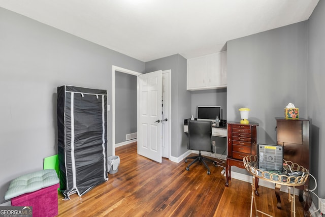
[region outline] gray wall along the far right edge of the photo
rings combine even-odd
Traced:
[[[325,1],[319,1],[308,20],[307,114],[311,126],[311,173],[317,178],[318,196],[325,198]],[[317,202],[317,201],[316,201]],[[314,201],[315,203],[315,201]]]

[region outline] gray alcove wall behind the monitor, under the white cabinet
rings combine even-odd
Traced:
[[[198,115],[198,106],[221,106],[221,119],[227,118],[227,89],[208,89],[191,91],[191,114]],[[216,153],[226,154],[227,139],[214,136]]]

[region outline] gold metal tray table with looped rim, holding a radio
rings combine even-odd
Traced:
[[[269,182],[273,182],[275,184],[292,187],[293,194],[290,193],[290,188],[288,188],[288,200],[291,203],[291,216],[296,216],[295,187],[301,186],[307,181],[309,177],[309,171],[303,166],[300,166],[297,163],[293,163],[291,161],[283,161],[283,172],[261,170],[258,169],[258,158],[256,155],[244,157],[243,162],[246,170],[253,176],[250,216],[252,216],[252,209],[254,203],[256,216],[258,216],[257,213],[260,212],[272,217],[272,215],[262,212],[256,207],[254,194],[256,190],[255,178],[260,178]]]

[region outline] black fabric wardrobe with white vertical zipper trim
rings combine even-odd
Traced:
[[[60,191],[82,196],[107,177],[107,91],[57,87]]]

